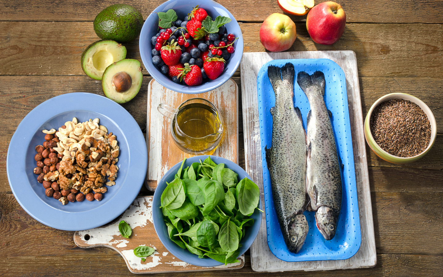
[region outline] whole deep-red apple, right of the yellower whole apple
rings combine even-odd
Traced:
[[[346,14],[342,6],[327,1],[318,4],[307,14],[306,28],[315,43],[334,44],[345,31]]]

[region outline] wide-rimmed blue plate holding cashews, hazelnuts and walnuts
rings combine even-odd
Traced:
[[[115,185],[107,187],[101,201],[68,203],[47,197],[37,175],[35,146],[42,144],[44,129],[58,129],[77,117],[79,122],[99,118],[120,146]],[[60,230],[86,230],[101,226],[122,214],[136,198],[144,182],[148,152],[143,133],[134,118],[116,102],[96,94],[70,93],[51,98],[23,118],[8,148],[6,170],[12,193],[20,206],[43,224]]]

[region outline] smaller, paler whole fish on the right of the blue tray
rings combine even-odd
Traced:
[[[306,191],[311,209],[316,211],[317,228],[326,240],[331,240],[342,207],[342,179],[330,115],[323,99],[325,76],[321,71],[312,75],[299,72],[297,83],[311,106],[307,116]]]

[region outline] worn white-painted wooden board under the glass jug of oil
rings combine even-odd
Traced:
[[[223,135],[218,147],[205,155],[220,156],[238,164],[238,86],[229,79],[215,90],[202,94],[182,94],[165,88],[154,79],[148,85],[146,145],[148,173],[146,187],[154,191],[163,175],[184,158],[196,156],[180,150],[171,138],[170,119],[157,110],[160,103],[177,108],[191,98],[203,98],[214,104],[223,119]]]

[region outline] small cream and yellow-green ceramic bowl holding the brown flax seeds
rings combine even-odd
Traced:
[[[394,156],[392,154],[389,154],[385,150],[383,150],[380,146],[378,146],[378,144],[375,142],[375,140],[372,136],[371,129],[369,126],[372,112],[378,105],[380,105],[382,102],[385,102],[385,101],[388,101],[391,99],[399,99],[399,98],[411,101],[411,102],[415,103],[416,105],[418,105],[421,109],[423,109],[424,113],[426,113],[427,118],[429,119],[429,122],[431,123],[431,140],[429,141],[429,145],[420,154],[418,154],[416,156],[408,157],[408,158]],[[431,149],[432,145],[435,142],[436,135],[437,135],[437,124],[435,122],[435,117],[432,114],[431,109],[429,109],[429,107],[423,101],[421,101],[420,99],[418,99],[415,96],[412,96],[410,94],[405,94],[405,93],[386,94],[385,96],[383,96],[383,97],[379,98],[377,101],[375,101],[375,103],[369,109],[369,112],[365,118],[366,142],[368,143],[369,147],[372,149],[372,151],[377,156],[379,156],[381,159],[388,161],[392,164],[408,164],[408,163],[415,162],[416,160],[419,160],[421,157],[426,155],[427,152],[429,152],[429,150]]]

